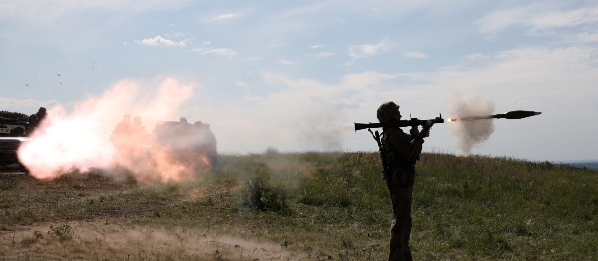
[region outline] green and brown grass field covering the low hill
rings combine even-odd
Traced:
[[[105,178],[111,170],[0,174],[0,259],[386,259],[392,209],[379,154],[218,160],[160,184]],[[417,260],[596,260],[597,212],[595,170],[426,153],[411,248]]]

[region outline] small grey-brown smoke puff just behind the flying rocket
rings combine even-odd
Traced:
[[[494,114],[494,103],[477,94],[454,94],[449,99],[449,113],[452,117],[483,116]],[[471,149],[481,145],[494,131],[493,120],[459,121],[449,124],[451,134],[456,138],[457,156],[467,156]]]

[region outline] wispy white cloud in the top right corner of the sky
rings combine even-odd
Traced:
[[[598,21],[598,6],[569,11],[558,10],[557,5],[545,2],[495,11],[475,21],[481,33],[493,35],[508,27],[520,25],[529,28],[530,35],[560,27],[573,27]]]

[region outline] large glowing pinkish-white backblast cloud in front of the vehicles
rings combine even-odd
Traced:
[[[165,151],[151,154],[138,151],[137,148],[142,147],[135,139],[130,139],[127,147],[136,150],[118,150],[109,142],[114,126],[124,114],[140,116],[145,122],[172,117],[181,103],[193,94],[193,86],[181,85],[172,78],[158,86],[155,97],[139,95],[142,87],[147,91],[147,86],[139,82],[123,80],[101,97],[77,102],[71,113],[61,105],[51,108],[47,118],[30,135],[30,141],[20,146],[19,160],[36,178],[52,179],[65,172],[117,166],[132,171],[138,180],[180,178],[178,173],[184,167],[169,161]],[[151,159],[139,160],[141,156]]]

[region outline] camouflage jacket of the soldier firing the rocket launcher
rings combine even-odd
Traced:
[[[383,128],[382,147],[390,168],[414,165],[422,154],[423,139],[411,138],[400,128]]]

